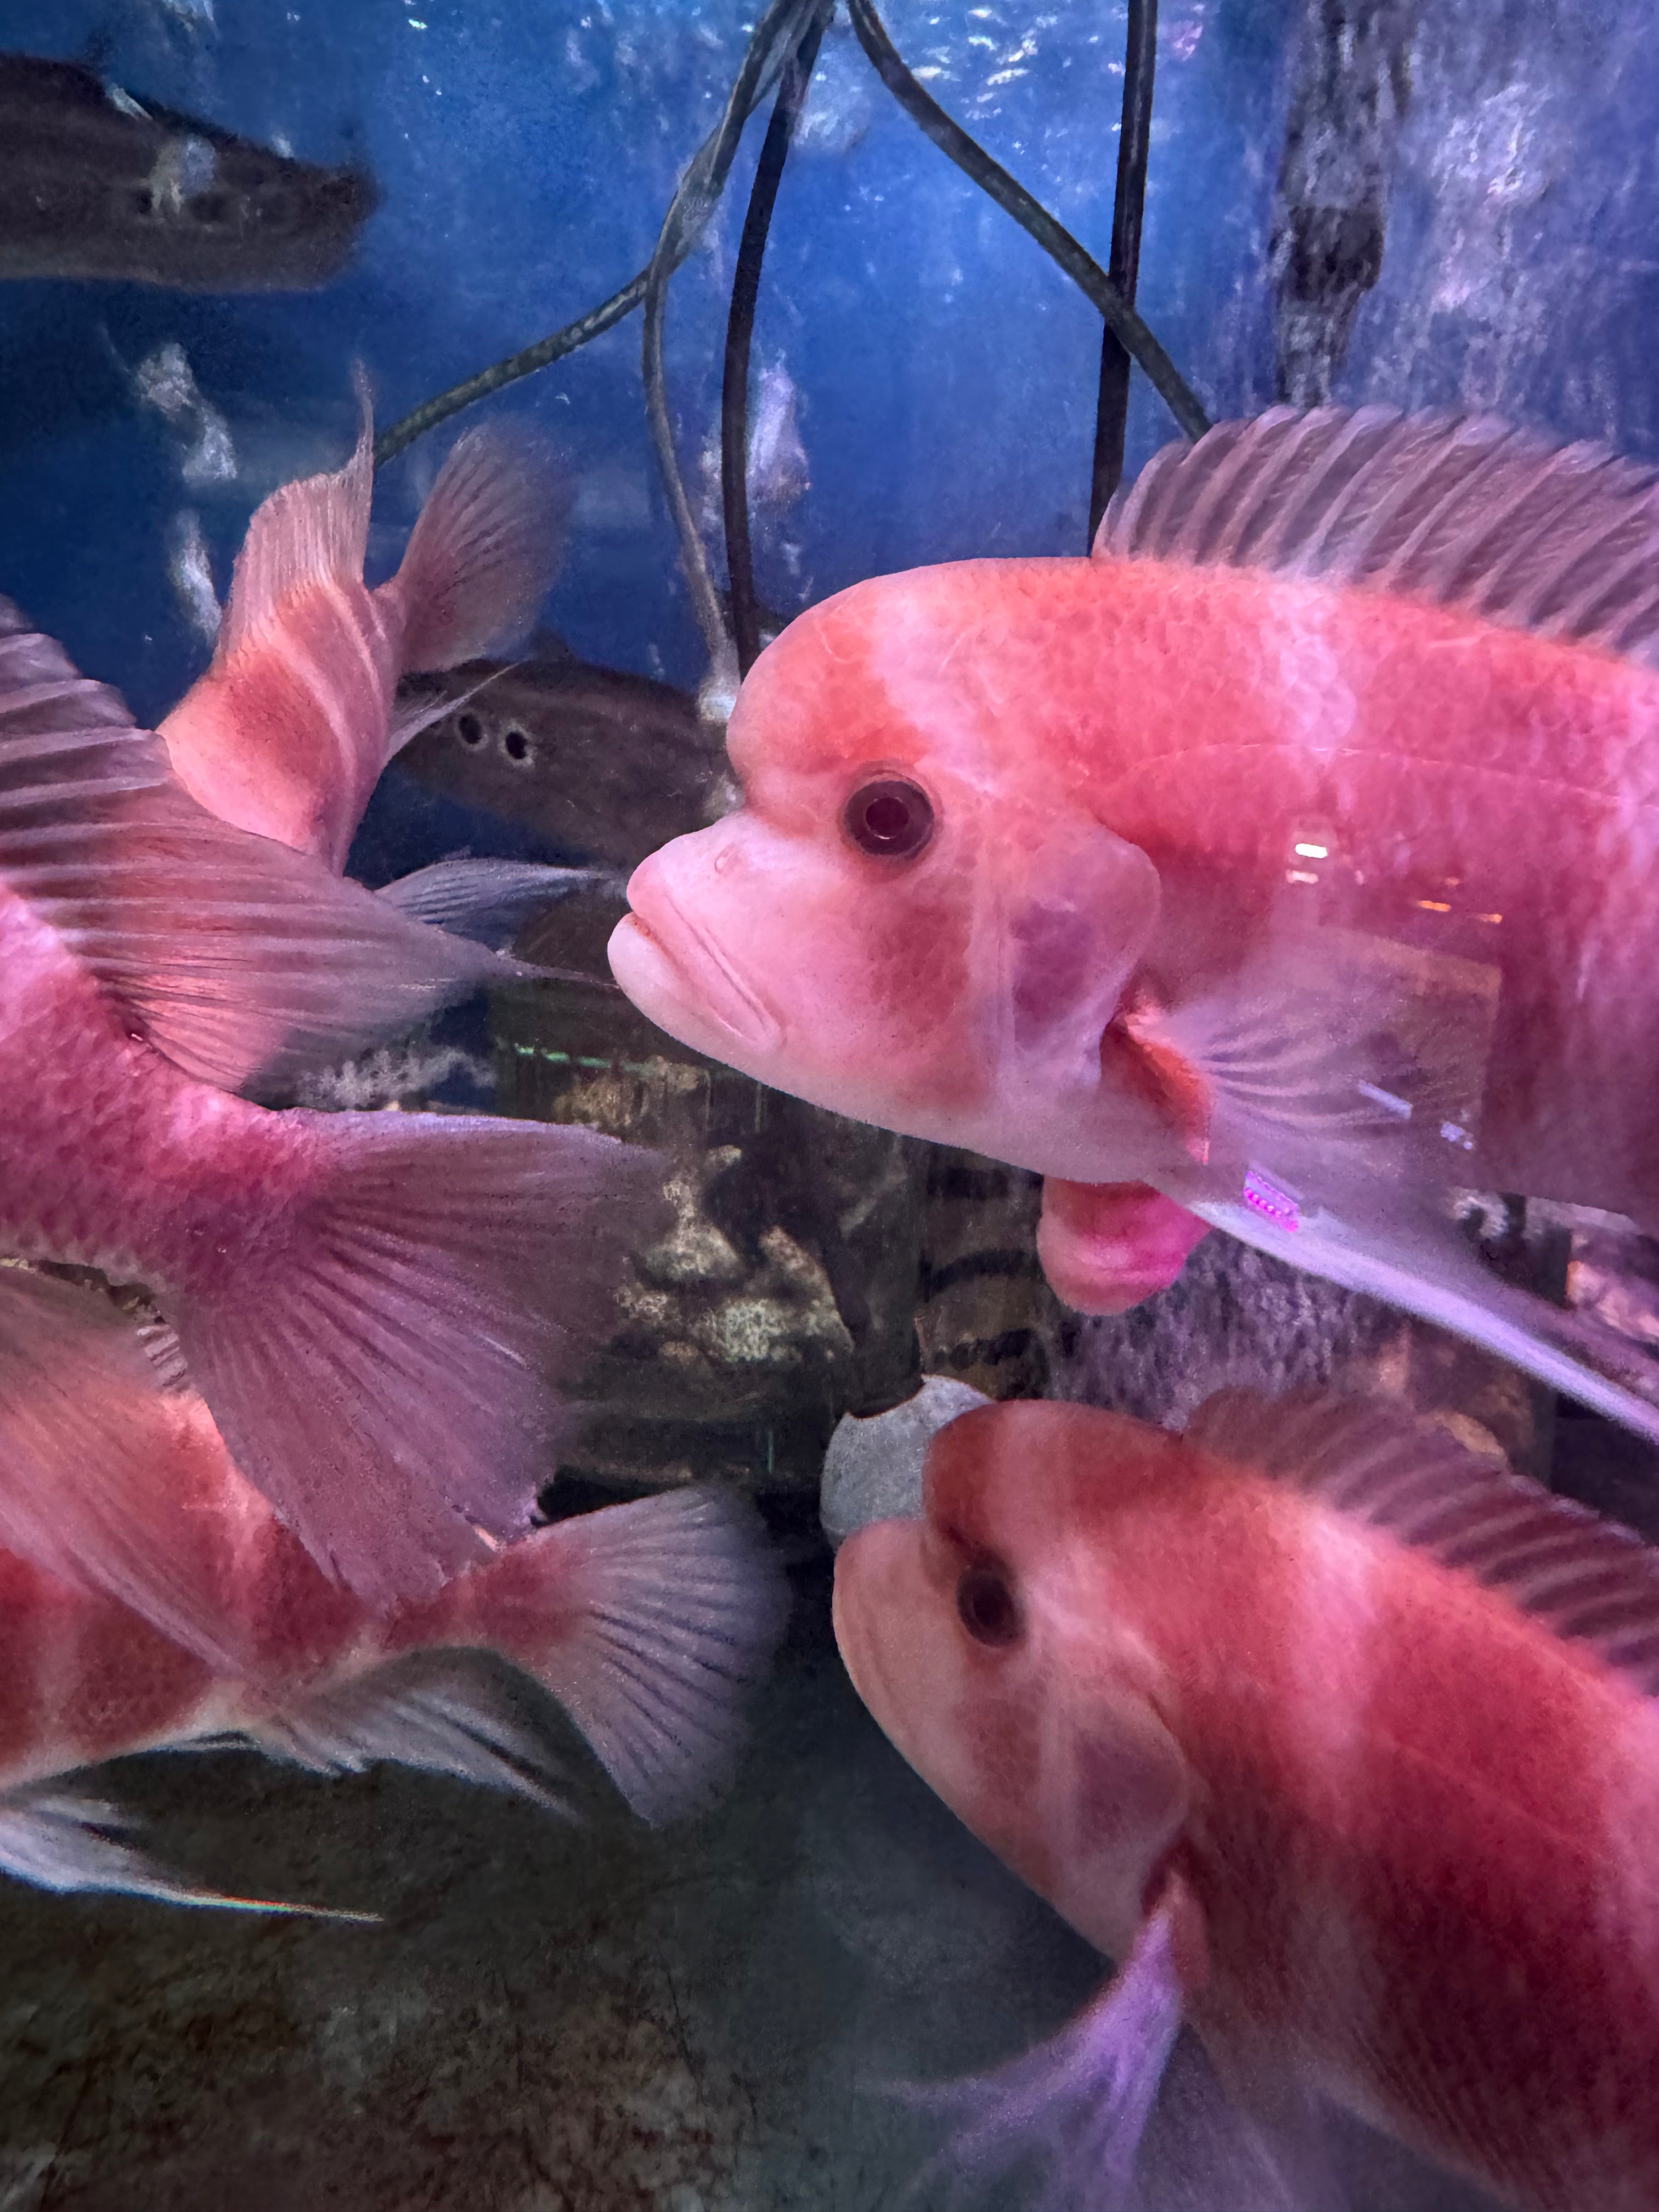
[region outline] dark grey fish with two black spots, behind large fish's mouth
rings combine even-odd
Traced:
[[[427,790],[613,867],[708,818],[726,763],[690,692],[582,661],[542,633],[535,659],[467,661],[398,688],[400,708],[445,697],[453,712],[396,759]]]

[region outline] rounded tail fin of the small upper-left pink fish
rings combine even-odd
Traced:
[[[456,668],[522,635],[557,575],[568,511],[546,447],[495,425],[467,431],[376,593],[403,613],[405,670]]]

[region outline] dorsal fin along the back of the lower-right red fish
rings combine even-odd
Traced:
[[[1442,1566],[1502,1590],[1659,1694],[1659,1553],[1619,1522],[1478,1458],[1376,1398],[1223,1389],[1188,1422],[1203,1451],[1316,1491]]]

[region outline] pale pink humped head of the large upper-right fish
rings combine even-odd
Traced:
[[[858,584],[761,655],[728,730],[743,803],[635,869],[611,964],[779,1091],[1099,1179],[1115,1133],[1137,1161],[1161,1139],[1102,1075],[1159,880],[1053,748],[1022,752],[998,653],[962,633],[980,566]]]

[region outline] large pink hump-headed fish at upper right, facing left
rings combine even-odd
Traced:
[[[878,577],[653,854],[641,1011],[838,1113],[1210,1223],[1659,1433],[1484,1274],[1458,1186],[1659,1230],[1655,471],[1491,420],[1276,409],[1091,560]]]

